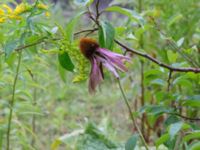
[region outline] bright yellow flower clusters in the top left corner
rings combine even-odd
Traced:
[[[22,19],[21,15],[30,11],[33,7],[33,5],[29,5],[28,3],[21,3],[15,9],[12,9],[10,6],[3,4],[0,6],[0,23],[5,22],[7,19],[20,20]],[[50,16],[47,5],[40,3],[36,7],[45,10],[45,16]]]

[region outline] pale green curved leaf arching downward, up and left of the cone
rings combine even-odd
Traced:
[[[74,29],[76,27],[76,24],[78,20],[80,19],[81,15],[83,15],[84,12],[80,12],[76,16],[74,16],[67,24],[66,26],[66,39],[70,42],[74,39]]]

